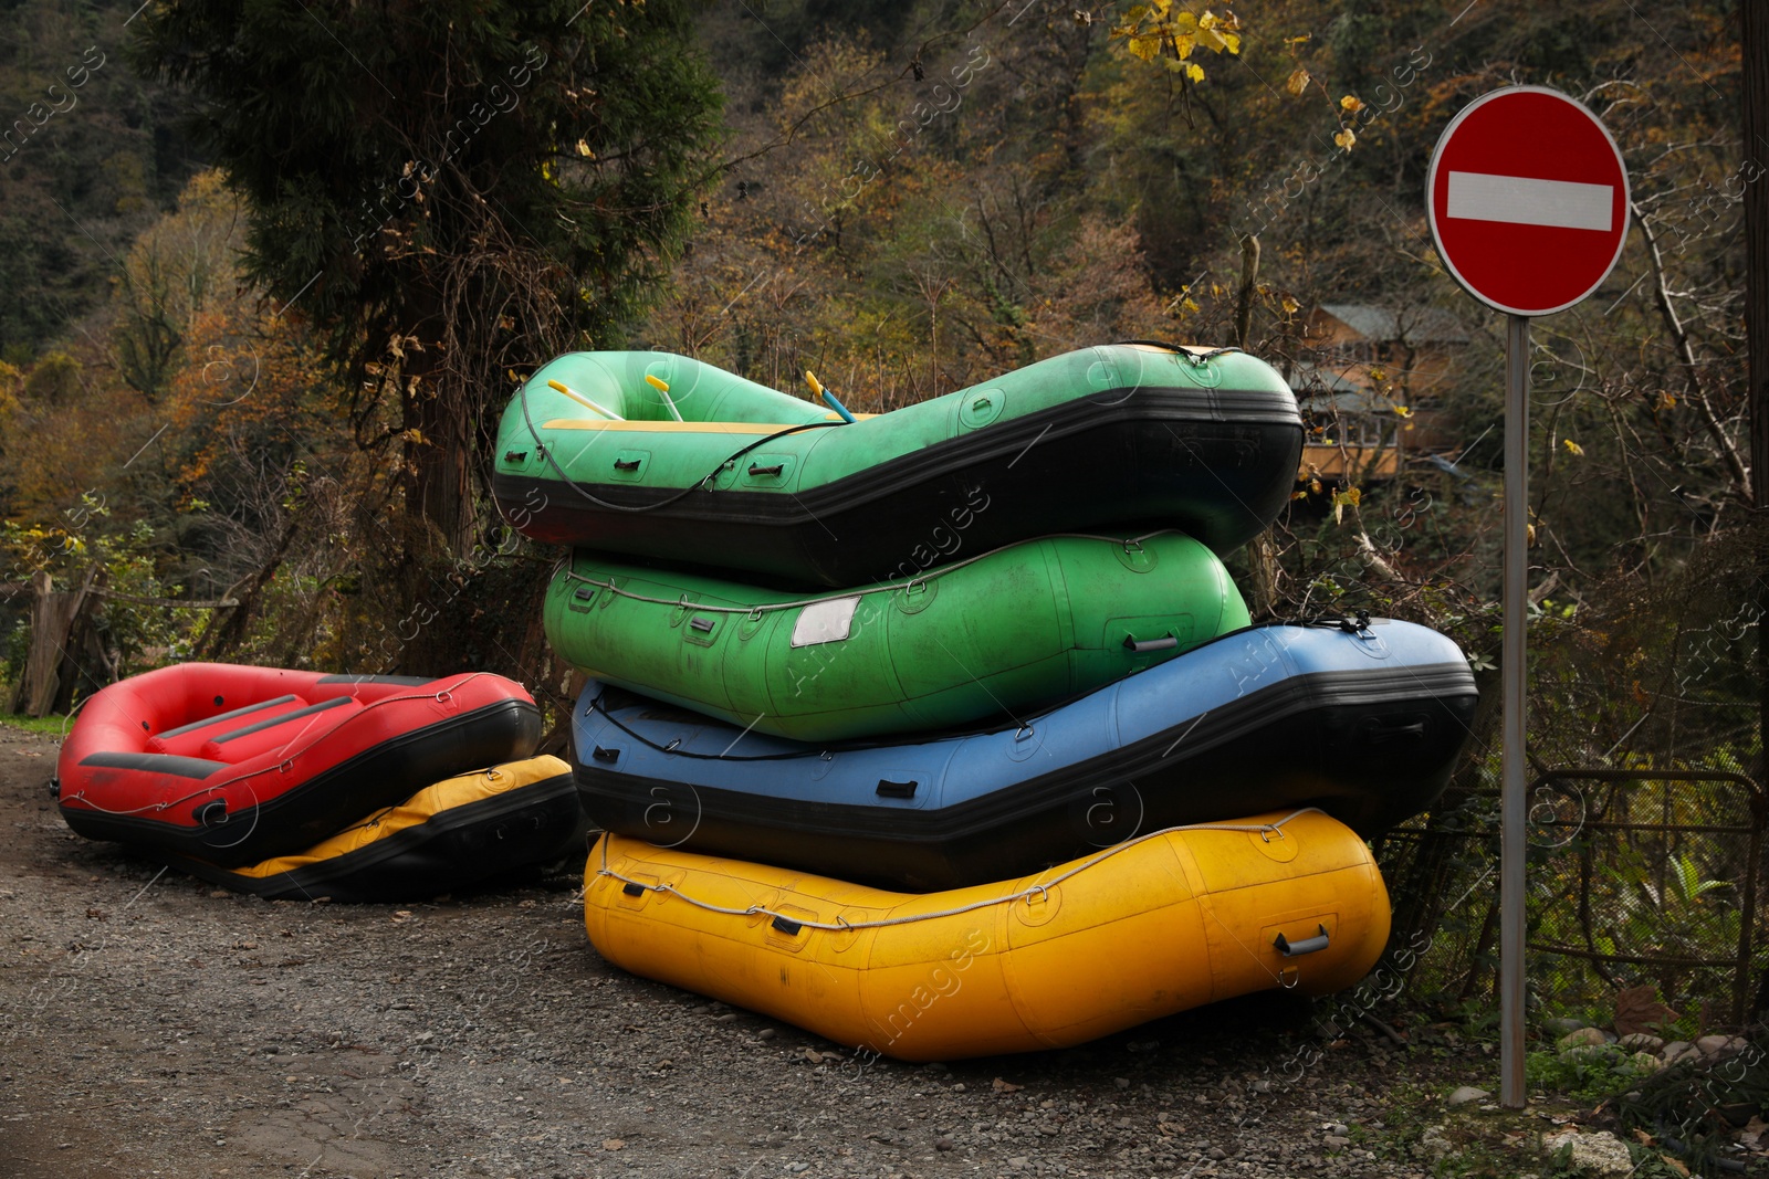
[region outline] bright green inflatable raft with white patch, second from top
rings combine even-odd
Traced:
[[[577,551],[554,650],[603,682],[800,741],[1015,718],[1249,624],[1180,532],[1053,536],[923,576],[794,596]]]

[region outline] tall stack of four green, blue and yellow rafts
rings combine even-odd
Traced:
[[[1129,343],[877,417],[810,385],[571,354],[504,415],[501,507],[575,546],[598,951],[904,1059],[1359,979],[1360,836],[1475,693],[1419,626],[1249,626],[1219,555],[1293,486],[1283,378]]]

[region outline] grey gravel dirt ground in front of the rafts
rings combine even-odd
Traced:
[[[571,877],[410,909],[234,896],[71,834],[53,760],[0,726],[0,1175],[1429,1170],[1444,1062],[1360,1031],[1260,1092],[1320,1043],[1270,1000],[862,1069],[609,967]]]

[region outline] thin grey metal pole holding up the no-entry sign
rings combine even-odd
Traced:
[[[1528,619],[1530,316],[1505,331],[1505,638],[1498,845],[1498,1103],[1521,1110],[1523,1092],[1523,704]]]

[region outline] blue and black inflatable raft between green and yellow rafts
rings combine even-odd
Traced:
[[[1444,635],[1332,619],[1242,629],[1038,714],[893,741],[766,737],[591,681],[575,771],[607,831],[936,891],[1302,804],[1375,834],[1436,799],[1474,705]]]

